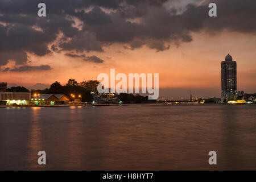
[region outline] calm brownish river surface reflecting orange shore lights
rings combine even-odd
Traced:
[[[256,170],[256,105],[2,108],[0,169]]]

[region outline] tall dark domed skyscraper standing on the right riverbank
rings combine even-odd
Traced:
[[[221,100],[233,100],[237,93],[237,62],[229,54],[221,62]]]

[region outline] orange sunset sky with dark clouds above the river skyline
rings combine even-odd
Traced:
[[[46,17],[38,17],[38,4]],[[209,17],[209,3],[217,17]],[[220,97],[221,61],[256,92],[255,0],[0,0],[0,82],[46,88],[100,73],[159,73],[160,97]]]

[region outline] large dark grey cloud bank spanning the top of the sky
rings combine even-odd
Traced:
[[[254,0],[212,0],[217,18],[208,16],[207,0],[187,5],[181,14],[176,7],[164,7],[166,0],[45,0],[46,18],[37,15],[40,2],[0,0],[0,65],[8,60],[27,64],[27,52],[102,52],[113,43],[131,50],[145,45],[164,51],[171,43],[191,42],[191,32],[256,32]]]

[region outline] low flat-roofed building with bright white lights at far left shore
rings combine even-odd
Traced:
[[[28,105],[30,92],[0,92],[0,105]]]

